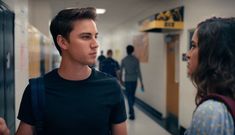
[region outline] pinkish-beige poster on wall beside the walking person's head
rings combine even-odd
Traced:
[[[149,55],[149,38],[147,33],[136,35],[133,37],[133,46],[135,47],[135,56],[142,63],[148,62]]]

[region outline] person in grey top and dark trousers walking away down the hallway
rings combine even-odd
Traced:
[[[134,52],[134,47],[132,45],[128,45],[126,47],[127,56],[122,59],[121,62],[121,77],[120,81],[122,81],[122,74],[123,70],[125,70],[125,87],[126,87],[126,94],[129,106],[129,119],[135,119],[135,111],[134,111],[134,103],[135,103],[135,92],[137,87],[137,79],[140,79],[141,88],[144,88],[142,75],[140,70],[140,63],[139,60],[132,55]]]

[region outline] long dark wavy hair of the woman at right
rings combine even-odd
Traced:
[[[235,99],[235,19],[213,17],[197,28],[198,67],[191,76],[196,104],[210,93]]]

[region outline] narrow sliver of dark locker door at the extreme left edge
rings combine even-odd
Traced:
[[[4,117],[3,9],[0,6],[0,117]]]

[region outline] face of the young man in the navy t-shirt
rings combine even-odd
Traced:
[[[97,55],[97,27],[93,20],[84,19],[73,23],[73,30],[69,34],[66,54],[70,61],[81,65],[91,65],[96,62]]]

